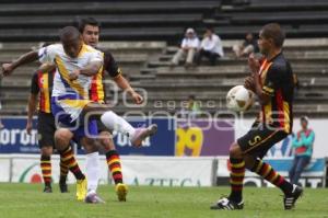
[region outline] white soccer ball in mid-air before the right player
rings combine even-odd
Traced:
[[[255,94],[244,85],[232,88],[226,94],[226,107],[234,112],[246,112],[254,104]]]

